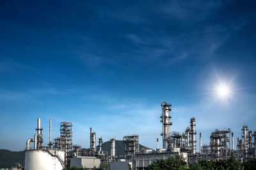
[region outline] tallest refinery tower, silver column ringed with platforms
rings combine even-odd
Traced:
[[[170,140],[170,126],[172,125],[172,122],[170,122],[170,119],[172,118],[170,116],[170,111],[172,104],[168,104],[165,102],[161,103],[162,106],[162,115],[161,115],[161,121],[163,124],[163,132],[161,136],[163,136],[163,148],[168,148],[168,140]]]

